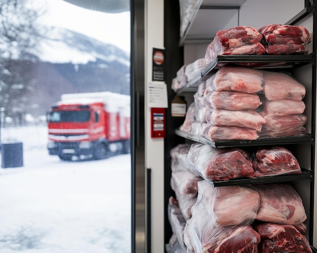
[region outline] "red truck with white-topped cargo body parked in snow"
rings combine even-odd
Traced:
[[[62,94],[48,113],[48,150],[63,161],[130,153],[130,96]]]

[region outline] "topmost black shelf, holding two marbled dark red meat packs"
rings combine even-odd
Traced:
[[[294,67],[300,66],[313,62],[313,54],[309,55],[229,55],[229,56],[217,56],[211,63],[209,63],[202,70],[202,77],[205,77],[217,67],[219,63],[229,64],[229,63],[283,63],[281,66],[276,67]],[[268,67],[258,67],[258,68],[272,68]]]

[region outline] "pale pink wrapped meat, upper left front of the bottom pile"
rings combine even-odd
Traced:
[[[250,225],[258,212],[260,196],[244,186],[214,187],[206,180],[198,182],[197,203],[201,202],[215,226]]]

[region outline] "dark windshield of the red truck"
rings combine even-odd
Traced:
[[[50,113],[49,122],[87,122],[89,111],[55,111]]]

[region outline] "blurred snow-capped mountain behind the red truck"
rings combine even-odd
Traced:
[[[33,54],[16,63],[34,77],[26,113],[45,115],[63,93],[130,94],[130,55],[115,45],[52,28]]]

